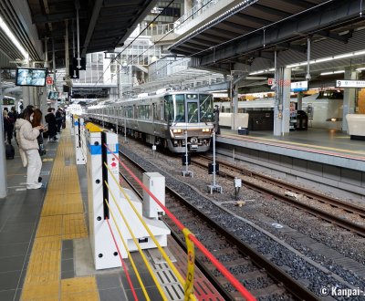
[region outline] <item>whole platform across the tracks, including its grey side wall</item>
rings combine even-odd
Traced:
[[[365,143],[341,130],[311,129],[274,136],[273,131],[221,129],[217,153],[282,172],[302,182],[315,181],[364,195]],[[365,195],[364,195],[365,197]]]

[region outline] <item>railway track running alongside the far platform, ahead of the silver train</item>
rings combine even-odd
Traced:
[[[195,164],[197,166],[201,166],[203,168],[207,168],[208,163],[212,162],[212,161],[213,161],[213,159],[211,157],[202,156],[202,155],[192,158],[193,164]],[[309,191],[307,189],[300,188],[295,185],[291,185],[287,182],[282,182],[282,181],[273,179],[271,177],[267,177],[263,174],[255,172],[255,171],[247,171],[243,168],[236,167],[235,165],[224,162],[224,161],[216,161],[216,163],[219,163],[219,167],[220,167],[219,175],[220,176],[235,179],[234,173],[243,174],[250,178],[259,180],[261,182],[266,182],[266,183],[269,183],[276,187],[280,187],[282,189],[285,189],[288,192],[294,192],[297,194],[304,195],[310,200],[313,200],[313,201],[316,201],[319,203],[328,204],[331,208],[335,208],[338,210],[337,215],[328,213],[327,211],[319,209],[306,202],[300,202],[296,198],[293,198],[293,197],[287,196],[283,193],[276,192],[272,189],[263,187],[262,185],[257,184],[255,182],[241,179],[243,185],[245,185],[245,187],[247,187],[247,188],[253,189],[256,192],[273,195],[276,199],[281,200],[283,202],[287,202],[290,205],[293,205],[301,210],[304,210],[311,215],[317,216],[317,217],[327,221],[328,223],[337,224],[339,227],[342,227],[353,233],[359,234],[362,237],[365,237],[365,226],[364,225],[361,225],[359,223],[353,223],[352,221],[341,217],[341,215],[342,215],[341,211],[343,211],[345,213],[351,213],[351,214],[354,214],[356,217],[365,219],[365,210],[363,208],[361,208],[360,206],[350,204],[349,202],[343,202],[338,199],[334,199],[334,198],[328,197],[326,195],[320,194],[318,192]],[[364,223],[365,223],[365,221],[364,221]]]

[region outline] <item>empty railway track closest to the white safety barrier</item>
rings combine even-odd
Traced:
[[[124,159],[129,159],[120,153]],[[139,179],[142,178],[144,169],[136,165],[132,160],[123,160],[130,171],[134,172]],[[130,187],[142,195],[141,187],[130,177],[129,173],[121,171],[121,176]],[[239,279],[248,290],[257,298],[264,299],[301,299],[317,300],[318,297],[311,293],[305,286],[285,271],[271,263],[265,256],[259,254],[251,246],[238,239],[235,234],[227,231],[222,225],[215,223],[202,208],[196,208],[189,199],[189,193],[175,192],[166,186],[166,207],[177,216],[180,221],[187,225],[203,242],[203,244]],[[184,245],[183,235],[165,217],[165,223],[172,229],[174,238]],[[197,252],[196,263],[203,273],[214,283],[224,299],[235,300],[238,293],[229,285],[214,265],[206,262],[203,255]]]

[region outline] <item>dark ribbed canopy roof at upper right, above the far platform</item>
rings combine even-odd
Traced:
[[[336,39],[347,43],[355,28],[365,26],[356,0],[246,0],[211,16],[170,47],[177,54],[200,57],[201,66],[273,58],[275,50],[307,51],[313,41]],[[222,67],[222,66],[221,66]]]

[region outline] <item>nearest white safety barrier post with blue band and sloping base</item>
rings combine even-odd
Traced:
[[[138,197],[128,189],[120,192],[120,187],[114,181],[113,176],[119,179],[119,157],[118,135],[107,131],[93,131],[89,126],[87,130],[88,156],[88,195],[89,195],[89,235],[93,258],[96,269],[105,269],[119,267],[121,265],[117,247],[110,234],[110,229],[106,217],[110,219],[111,230],[115,236],[116,243],[120,249],[122,258],[127,258],[128,253],[121,241],[119,230],[123,241],[126,243],[129,251],[137,251],[138,247],[133,242],[126,223],[129,224],[133,235],[137,238],[141,249],[154,248],[156,245],[151,240],[151,236],[140,222],[137,214],[130,207],[130,202],[136,208],[136,211],[142,216],[142,202]],[[104,143],[108,145],[104,147]],[[105,167],[104,162],[108,165]],[[110,175],[112,172],[113,176]],[[108,186],[104,184],[108,182]],[[164,190],[164,187],[160,187]],[[109,202],[109,207],[104,200]],[[116,204],[118,202],[119,208]],[[130,201],[130,202],[129,202]],[[110,211],[109,211],[110,210]],[[120,212],[126,218],[126,223],[122,219]],[[114,219],[118,224],[117,229]],[[110,215],[110,216],[109,216]],[[167,245],[167,234],[170,230],[160,220],[142,216],[144,223],[148,225],[151,233],[162,246]]]

